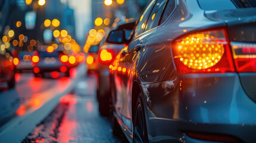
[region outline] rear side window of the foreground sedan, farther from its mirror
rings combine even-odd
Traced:
[[[147,20],[147,25],[146,25],[145,31],[153,29],[154,27],[158,26],[158,23],[159,23],[161,15],[162,15],[162,12],[164,10],[166,1],[167,0],[156,1],[156,4],[149,16],[149,19]]]

